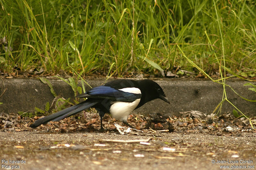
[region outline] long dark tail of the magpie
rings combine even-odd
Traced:
[[[98,103],[98,102],[86,100],[84,102],[78,103],[78,104],[71,106],[69,108],[66,108],[64,110],[60,110],[56,113],[48,115],[46,117],[42,117],[42,118],[36,120],[33,124],[31,124],[30,127],[36,128],[37,126],[39,126],[41,124],[46,124],[47,122],[50,122],[50,121],[54,121],[54,122],[60,121],[61,119],[64,119],[65,117],[72,116],[82,110],[88,109],[89,107],[92,107],[96,103]]]

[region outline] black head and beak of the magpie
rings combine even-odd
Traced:
[[[140,89],[142,89],[141,95],[144,98],[145,103],[154,99],[162,99],[164,102],[169,103],[168,98],[165,96],[163,89],[152,80],[139,81]]]

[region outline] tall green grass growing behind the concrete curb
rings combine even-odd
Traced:
[[[96,70],[120,77],[158,74],[174,67],[199,73],[190,60],[209,75],[221,68],[223,74],[255,76],[252,0],[141,0],[134,6],[127,0],[0,3],[0,39],[7,40],[0,45],[2,72],[72,72],[69,64],[86,75]]]

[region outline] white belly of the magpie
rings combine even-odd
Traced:
[[[127,117],[132,111],[138,106],[140,99],[136,99],[133,102],[115,102],[111,105],[109,112],[115,119],[121,120],[122,122],[127,121]]]

